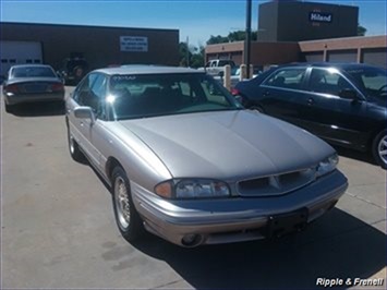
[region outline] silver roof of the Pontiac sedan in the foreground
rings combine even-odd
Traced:
[[[189,68],[148,65],[148,64],[125,64],[119,68],[106,68],[95,70],[109,75],[114,74],[169,74],[169,73],[204,73]]]

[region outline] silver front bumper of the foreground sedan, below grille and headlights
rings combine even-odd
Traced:
[[[282,196],[166,201],[131,182],[145,228],[183,246],[265,239],[271,232],[270,220],[287,214],[292,221],[299,213],[306,213],[305,225],[310,223],[332,208],[347,188],[346,177],[335,170]],[[196,238],[189,245],[183,239],[192,234]]]

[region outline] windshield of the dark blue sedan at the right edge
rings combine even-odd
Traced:
[[[370,96],[387,97],[387,72],[378,68],[349,69],[347,72],[352,75],[358,84],[363,87]]]

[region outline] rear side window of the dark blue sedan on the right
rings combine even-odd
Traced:
[[[301,89],[304,80],[305,69],[289,68],[276,71],[263,85]]]

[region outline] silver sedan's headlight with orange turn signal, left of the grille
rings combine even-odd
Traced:
[[[155,192],[167,198],[208,198],[230,195],[229,186],[225,182],[206,179],[166,181],[159,183]]]

